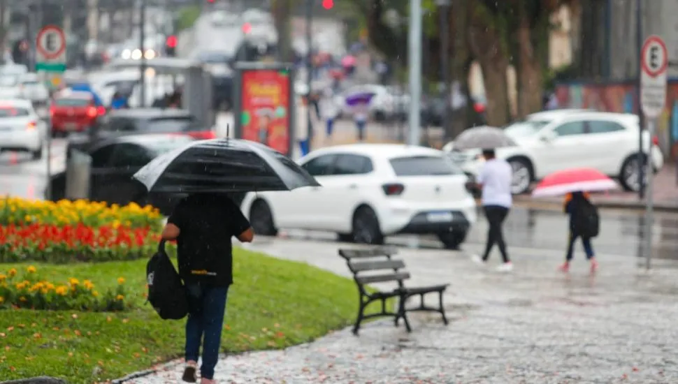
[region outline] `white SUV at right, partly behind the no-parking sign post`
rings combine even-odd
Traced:
[[[538,112],[504,129],[517,147],[497,149],[513,168],[513,193],[524,193],[531,182],[568,168],[596,168],[619,179],[624,189],[637,191],[640,164],[636,115],[562,110]],[[656,137],[643,133],[643,153],[651,149],[655,172],[664,164]],[[461,157],[461,159],[460,159]],[[456,154],[461,167],[477,175],[484,159],[480,149]]]

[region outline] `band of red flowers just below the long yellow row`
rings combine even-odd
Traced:
[[[157,231],[149,227],[10,224],[0,226],[0,263],[134,260],[152,255],[158,241]]]

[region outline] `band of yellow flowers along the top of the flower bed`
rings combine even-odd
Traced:
[[[158,229],[161,215],[158,209],[147,205],[140,207],[134,202],[120,207],[104,202],[87,200],[60,200],[58,202],[26,200],[22,198],[0,198],[0,226],[14,224],[50,224],[68,226],[81,223],[89,227],[119,226],[127,228]]]

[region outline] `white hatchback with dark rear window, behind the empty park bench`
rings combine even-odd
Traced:
[[[435,234],[456,249],[476,221],[468,177],[436,149],[345,145],[319,149],[299,163],[322,187],[247,193],[241,207],[257,234],[323,230],[368,244],[399,233]]]

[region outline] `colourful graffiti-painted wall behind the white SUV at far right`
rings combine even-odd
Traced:
[[[560,108],[590,108],[605,112],[637,113],[634,82],[556,85]],[[666,108],[657,121],[659,146],[667,158],[678,159],[678,80],[670,80]]]

